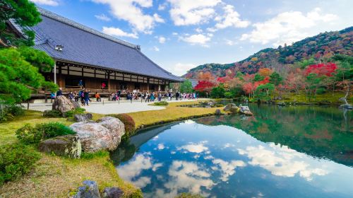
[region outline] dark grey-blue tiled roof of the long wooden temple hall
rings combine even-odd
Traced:
[[[38,8],[42,22],[35,31],[35,48],[54,59],[99,66],[116,71],[183,81],[146,57],[137,45],[105,35],[55,13]],[[62,51],[55,50],[63,46]]]

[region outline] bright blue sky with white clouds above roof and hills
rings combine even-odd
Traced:
[[[352,0],[32,0],[38,6],[141,45],[173,74],[237,62],[353,25]]]

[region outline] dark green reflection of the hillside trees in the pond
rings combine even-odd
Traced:
[[[254,117],[238,115],[205,117],[196,122],[228,125],[244,130],[263,142],[287,145],[299,152],[345,165],[353,165],[352,111],[344,115],[337,107],[251,106]]]

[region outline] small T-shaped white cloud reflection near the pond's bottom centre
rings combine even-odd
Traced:
[[[222,159],[214,159],[212,161],[215,165],[220,167],[220,171],[222,171],[222,176],[220,179],[223,182],[227,182],[230,175],[234,175],[235,168],[245,166],[246,163],[244,161],[223,161]],[[218,168],[213,166],[213,170],[217,170]]]

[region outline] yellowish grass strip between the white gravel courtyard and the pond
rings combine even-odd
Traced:
[[[203,107],[178,107],[179,105],[193,105],[198,102],[181,102],[181,103],[169,103],[164,110],[150,110],[144,112],[130,112],[133,120],[135,120],[136,128],[148,126],[160,122],[173,122],[177,120],[183,120],[189,117],[203,116],[214,114],[215,110],[222,107],[203,108]]]

